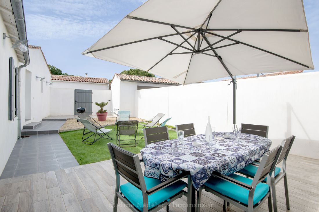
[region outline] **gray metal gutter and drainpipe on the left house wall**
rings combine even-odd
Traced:
[[[27,40],[26,37],[26,21],[23,9],[23,2],[22,0],[11,0],[11,7],[13,11],[13,16],[16,22],[19,39],[20,40]],[[28,46],[27,46],[28,47]],[[23,52],[24,61],[25,63],[18,67],[18,139],[21,138],[21,107],[20,107],[20,98],[21,98],[21,68],[26,67],[30,64],[30,57],[29,57],[29,49],[27,52]]]

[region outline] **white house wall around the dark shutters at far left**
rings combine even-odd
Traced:
[[[3,19],[0,16],[0,32],[7,33],[7,29],[4,25]],[[0,174],[2,173],[5,164],[11,154],[11,151],[18,138],[18,123],[17,117],[13,121],[8,120],[8,94],[9,94],[9,57],[13,57],[15,67],[18,67],[18,57],[11,48],[11,39],[1,39],[0,42],[0,90],[1,90],[1,102],[4,107],[3,118],[0,119]],[[14,92],[14,90],[13,90]],[[14,102],[13,102],[14,103]]]

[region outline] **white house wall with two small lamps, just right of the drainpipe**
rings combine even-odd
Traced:
[[[27,124],[26,120],[26,97],[31,97],[31,121],[39,122],[50,115],[50,85],[51,73],[43,58],[41,49],[29,48],[30,64],[21,69],[21,129]],[[31,95],[26,88],[26,72],[31,72]],[[43,92],[41,92],[41,81],[38,77],[45,77],[43,80]]]

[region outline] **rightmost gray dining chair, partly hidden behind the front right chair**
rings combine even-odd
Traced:
[[[277,198],[276,198],[276,185],[281,179],[284,179],[284,187],[285,187],[285,194],[286,194],[286,208],[289,210],[289,195],[288,195],[288,182],[287,182],[287,169],[286,169],[286,162],[287,157],[289,154],[289,151],[293,145],[293,141],[295,139],[295,136],[290,136],[289,138],[286,138],[285,145],[282,149],[282,152],[280,154],[280,157],[278,159],[277,165],[282,161],[282,172],[281,169],[276,166],[274,171],[274,178],[271,178],[271,192],[272,192],[272,201],[274,205],[274,212],[277,212]],[[241,169],[238,173],[244,174],[248,177],[254,178],[256,175],[257,169],[260,161],[254,162],[250,164],[249,166],[246,166],[245,168]],[[266,181],[266,179],[264,180]]]

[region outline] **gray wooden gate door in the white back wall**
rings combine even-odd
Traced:
[[[86,114],[92,114],[92,90],[75,89],[74,101],[74,115],[78,115],[76,109],[80,106],[86,109]]]

